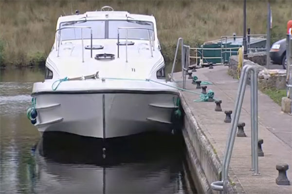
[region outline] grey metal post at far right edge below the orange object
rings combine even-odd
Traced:
[[[292,99],[292,35],[286,37],[286,69],[287,69],[287,97]],[[291,105],[292,114],[292,105]]]

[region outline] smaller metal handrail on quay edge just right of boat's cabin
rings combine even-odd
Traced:
[[[180,44],[181,44],[181,51],[182,51],[182,77],[183,77],[183,89],[185,89],[185,81],[186,81],[186,72],[187,72],[187,67],[186,67],[186,64],[190,64],[190,58],[187,57],[189,56],[189,51],[190,51],[190,46],[187,46],[187,45],[184,45],[183,44],[183,38],[179,38],[178,39],[178,43],[177,43],[177,47],[176,47],[176,50],[175,50],[175,55],[174,55],[174,59],[173,59],[173,64],[172,64],[172,68],[171,68],[171,74],[170,74],[170,80],[174,81],[173,80],[173,72],[174,72],[174,69],[175,69],[175,62],[176,62],[176,59],[177,59],[177,54],[178,54],[178,50],[179,50],[179,47],[180,47]]]

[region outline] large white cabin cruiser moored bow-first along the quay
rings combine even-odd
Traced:
[[[165,80],[154,16],[108,6],[60,16],[45,71],[32,92],[41,133],[112,138],[173,129],[178,90]]]

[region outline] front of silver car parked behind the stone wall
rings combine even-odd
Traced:
[[[283,65],[286,69],[286,38],[275,42],[270,49],[270,58],[274,64]]]

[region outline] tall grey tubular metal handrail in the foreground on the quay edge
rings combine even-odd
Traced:
[[[251,72],[251,129],[252,129],[252,170],[253,175],[259,175],[258,172],[258,154],[257,154],[257,140],[258,140],[258,121],[257,121],[257,67],[256,65],[245,65],[242,68],[239,86],[237,90],[237,99],[234,107],[234,114],[232,116],[231,127],[229,130],[224,158],[222,162],[222,180],[211,183],[211,188],[217,191],[227,193],[228,171],[229,164],[234,146],[235,136],[237,132],[237,124],[241,112],[243,97],[248,80],[248,73]]]

